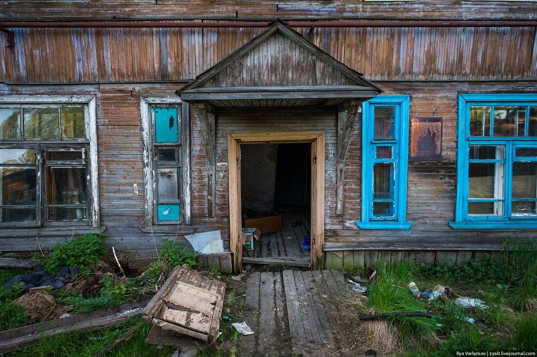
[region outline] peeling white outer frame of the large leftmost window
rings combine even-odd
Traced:
[[[89,144],[88,168],[90,176],[90,214],[88,220],[93,228],[100,228],[99,169],[97,157],[97,105],[95,96],[83,95],[14,95],[0,96],[0,105],[61,105],[80,104],[85,108],[86,138]],[[34,143],[34,142],[32,142]],[[45,142],[46,143],[46,142]],[[14,226],[16,228],[16,226]]]

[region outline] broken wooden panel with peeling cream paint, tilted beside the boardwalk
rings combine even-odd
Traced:
[[[203,341],[217,338],[226,283],[177,266],[151,299],[143,317],[166,330]]]

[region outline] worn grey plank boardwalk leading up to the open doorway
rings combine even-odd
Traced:
[[[347,289],[334,270],[254,272],[246,282],[244,356],[331,356],[338,349],[332,334],[333,302]]]

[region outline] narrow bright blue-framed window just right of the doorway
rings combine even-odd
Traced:
[[[378,96],[362,105],[361,229],[409,229],[409,96]]]

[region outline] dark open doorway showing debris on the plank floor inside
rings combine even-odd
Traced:
[[[242,227],[262,232],[243,261],[309,265],[310,158],[310,143],[241,145]]]

